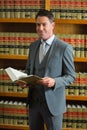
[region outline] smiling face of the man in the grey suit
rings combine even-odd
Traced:
[[[36,31],[43,40],[47,40],[52,36],[54,26],[55,23],[51,23],[45,16],[39,16],[36,19]]]

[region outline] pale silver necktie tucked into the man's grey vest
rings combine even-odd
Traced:
[[[43,58],[45,56],[45,53],[46,53],[45,46],[46,46],[45,42],[41,43],[41,45],[40,45],[40,50],[39,50],[39,60],[40,60],[40,63],[43,60]]]

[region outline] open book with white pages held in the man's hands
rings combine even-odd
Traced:
[[[5,71],[13,82],[34,84],[36,81],[41,80],[41,77],[39,76],[27,75],[26,73],[11,67],[6,68]]]

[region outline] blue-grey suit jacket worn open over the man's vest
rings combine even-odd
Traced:
[[[33,74],[35,55],[40,39],[31,44],[26,72]],[[45,68],[45,75],[55,79],[55,88],[45,87],[45,97],[48,108],[53,115],[66,111],[65,87],[75,80],[73,49],[71,45],[54,38]]]

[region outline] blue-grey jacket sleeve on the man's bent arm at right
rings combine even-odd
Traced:
[[[55,78],[55,89],[72,84],[75,80],[76,75],[73,62],[73,48],[70,45],[66,47],[62,61],[62,75]]]

